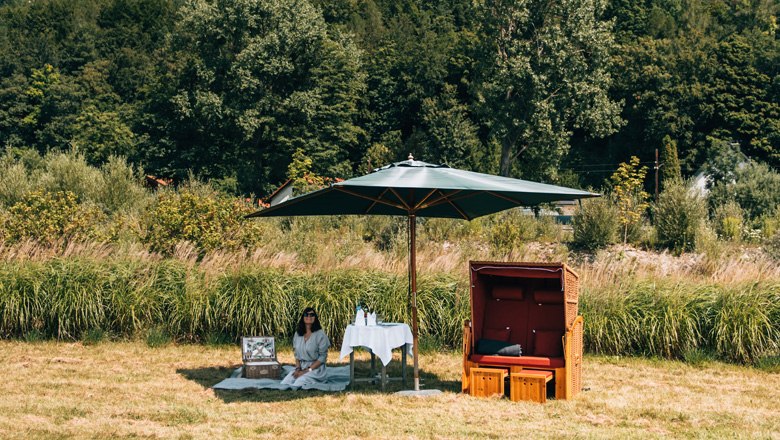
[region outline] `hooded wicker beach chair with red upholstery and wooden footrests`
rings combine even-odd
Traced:
[[[469,266],[471,320],[463,326],[463,392],[479,395],[479,390],[490,389],[481,382],[490,379],[486,372],[495,380],[495,370],[503,370],[513,400],[544,402],[548,382],[554,384],[556,399],[576,396],[582,388],[583,328],[577,315],[577,273],[563,263]],[[522,355],[485,354],[484,347],[496,340],[519,344]]]

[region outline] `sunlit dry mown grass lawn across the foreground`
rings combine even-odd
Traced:
[[[337,357],[329,364],[344,363]],[[420,361],[424,386],[442,395],[399,397],[370,384],[215,392],[209,387],[240,363],[238,347],[0,341],[0,438],[780,438],[776,373],[588,356],[586,390],[539,405],[460,394],[459,353]]]

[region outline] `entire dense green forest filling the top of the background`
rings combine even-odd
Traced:
[[[778,10],[776,0],[5,0],[0,144],[77,149],[93,165],[124,156],[149,174],[258,195],[287,178],[295,154],[325,177],[412,153],[597,187],[656,149],[684,176],[723,148],[776,170]]]

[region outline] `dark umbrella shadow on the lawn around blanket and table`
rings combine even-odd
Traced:
[[[346,364],[348,365],[348,364]],[[233,371],[241,365],[231,367],[202,367],[179,369],[176,372],[187,380],[191,380],[203,388],[211,388],[217,383],[230,377]],[[330,367],[345,366],[343,363],[328,364]],[[379,363],[377,363],[379,366]],[[381,368],[381,366],[379,366]],[[378,374],[378,370],[376,370]],[[401,378],[401,366],[394,362],[387,367],[387,374],[390,378]],[[370,378],[371,362],[355,361],[355,378]],[[420,369],[420,389],[436,389],[445,392],[460,392],[460,381],[444,380],[439,376]],[[222,399],[225,403],[231,402],[285,402],[299,399],[308,399],[322,397],[327,395],[340,395],[345,393],[352,394],[392,394],[397,391],[409,390],[414,388],[414,370],[411,365],[406,369],[406,385],[400,380],[392,380],[385,386],[385,391],[381,390],[378,376],[376,383],[357,382],[352,387],[347,387],[344,391],[326,392],[318,390],[271,390],[271,389],[248,389],[248,390],[214,390],[214,395]]]

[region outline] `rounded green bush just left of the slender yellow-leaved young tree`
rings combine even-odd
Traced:
[[[620,218],[617,208],[608,197],[583,200],[572,221],[576,247],[595,250],[617,243]]]

